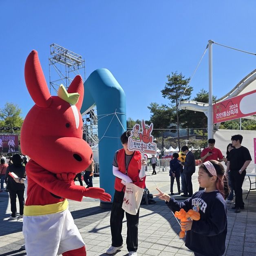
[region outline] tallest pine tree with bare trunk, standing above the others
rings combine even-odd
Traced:
[[[176,120],[177,120],[177,135],[178,135],[178,145],[180,147],[179,140],[179,102],[181,100],[190,99],[192,93],[192,86],[188,86],[190,78],[185,79],[182,73],[172,72],[172,76],[167,75],[168,82],[166,82],[165,87],[161,90],[162,96],[164,98],[170,99],[171,105],[175,107]]]

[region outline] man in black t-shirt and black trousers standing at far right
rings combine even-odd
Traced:
[[[243,190],[242,185],[245,179],[246,168],[252,161],[252,157],[247,148],[241,146],[243,136],[233,135],[231,137],[232,146],[235,148],[230,151],[227,157],[227,170],[230,170],[231,183],[236,194],[235,212],[241,212],[241,209],[245,209],[245,203],[243,202]]]

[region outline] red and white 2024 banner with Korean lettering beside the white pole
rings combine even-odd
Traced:
[[[256,114],[256,90],[213,105],[213,123]]]

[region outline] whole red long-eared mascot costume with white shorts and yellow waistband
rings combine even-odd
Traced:
[[[28,181],[23,234],[28,256],[86,256],[82,236],[68,211],[66,199],[83,196],[110,201],[102,188],[75,185],[73,178],[91,163],[90,146],[82,139],[79,112],[84,97],[82,78],[76,76],[68,91],[60,86],[51,96],[38,53],[32,51],[25,64],[25,80],[35,105],[21,130],[22,153]]]

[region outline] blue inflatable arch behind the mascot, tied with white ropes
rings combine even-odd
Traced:
[[[126,96],[115,77],[106,68],[90,74],[84,82],[84,101],[81,113],[97,106],[100,187],[114,196],[115,177],[112,163],[115,151],[122,148],[120,136],[126,131]],[[100,207],[110,209],[111,203],[102,202]]]

